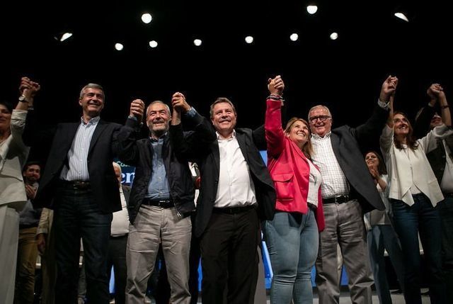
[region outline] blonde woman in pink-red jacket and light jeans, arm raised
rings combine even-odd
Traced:
[[[280,108],[285,85],[269,79],[265,116],[268,168],[277,193],[275,217],[265,223],[273,281],[270,303],[313,303],[311,269],[324,227],[321,174],[311,162],[311,133],[302,118],[282,129]]]

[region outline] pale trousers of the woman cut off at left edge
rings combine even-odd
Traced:
[[[18,242],[19,213],[0,206],[0,303],[13,303]]]

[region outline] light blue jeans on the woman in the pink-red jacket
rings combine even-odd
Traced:
[[[313,303],[311,269],[319,245],[313,210],[307,214],[277,212],[265,223],[265,234],[274,274],[270,303]]]

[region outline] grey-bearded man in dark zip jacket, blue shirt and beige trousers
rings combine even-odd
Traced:
[[[185,102],[182,94],[174,94],[175,98]],[[131,225],[127,240],[126,302],[144,303],[147,281],[161,243],[171,286],[170,302],[188,304],[192,226],[189,215],[195,209],[195,191],[188,167],[191,155],[173,149],[168,133],[170,109],[162,101],[149,104],[146,116],[149,137],[137,140],[143,112],[144,102],[132,101],[130,116],[119,135],[120,159],[136,167],[128,206]],[[195,128],[202,125],[209,128],[209,121],[195,109],[191,108],[187,115],[193,116]],[[183,138],[196,140],[193,135],[184,133]],[[210,136],[205,132],[200,139],[209,140]]]

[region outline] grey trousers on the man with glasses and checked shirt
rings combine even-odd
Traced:
[[[373,276],[369,266],[365,225],[358,201],[323,205],[326,228],[319,235],[316,286],[319,303],[339,303],[337,246],[349,278],[352,303],[371,304]]]

